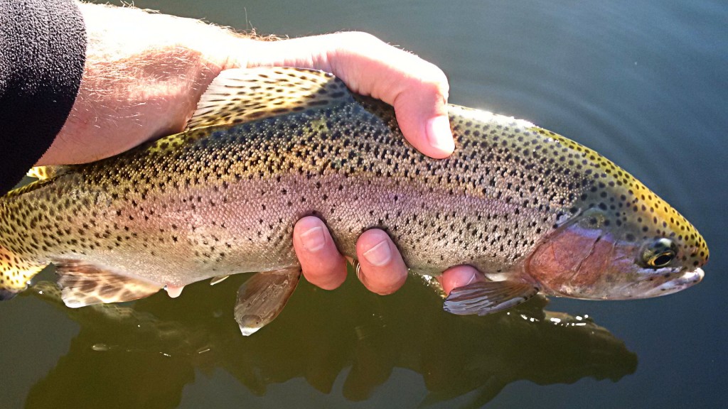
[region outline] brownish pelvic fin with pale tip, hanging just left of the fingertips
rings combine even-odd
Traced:
[[[257,273],[237,290],[235,321],[248,336],[268,325],[283,310],[301,277],[301,267]]]

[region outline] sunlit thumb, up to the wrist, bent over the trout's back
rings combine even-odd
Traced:
[[[455,145],[447,116],[449,85],[443,71],[416,55],[367,33],[348,32],[256,43],[247,65],[318,68],[338,76],[354,92],[395,107],[402,133],[433,158],[452,154]]]

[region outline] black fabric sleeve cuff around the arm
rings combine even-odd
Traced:
[[[0,0],[0,194],[23,178],[79,92],[86,30],[73,0]]]

